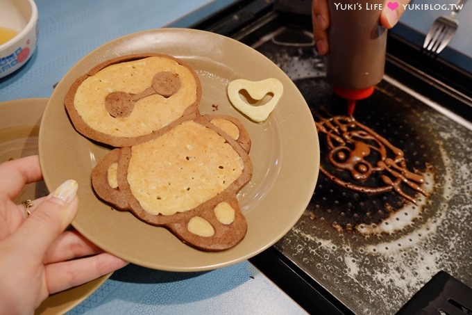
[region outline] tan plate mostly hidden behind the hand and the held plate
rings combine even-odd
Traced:
[[[0,103],[0,163],[37,154],[41,115],[47,99],[18,99]],[[16,202],[47,195],[43,181],[28,184]],[[78,305],[105,282],[111,273],[76,288],[54,294],[42,302],[35,314],[63,314]]]

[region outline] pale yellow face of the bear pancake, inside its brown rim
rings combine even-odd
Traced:
[[[111,92],[139,94],[151,87],[153,76],[159,72],[174,72],[185,82],[171,97],[154,94],[138,100],[126,118],[114,118],[106,111],[105,98]],[[74,106],[92,129],[118,137],[135,137],[165,127],[196,102],[198,83],[192,72],[176,60],[152,56],[117,63],[88,77],[78,87]]]

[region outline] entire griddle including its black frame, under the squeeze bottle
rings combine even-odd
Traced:
[[[345,101],[326,82],[311,23],[301,22],[306,18],[298,12],[292,17],[272,13],[266,8],[272,1],[248,2],[222,13],[227,19],[219,15],[198,28],[230,35],[273,60],[301,90],[315,120],[346,115]],[[237,31],[229,26],[233,20]],[[414,76],[408,66],[407,76]],[[472,124],[463,119],[471,104],[464,109],[463,99],[455,102],[457,97],[444,93],[441,84],[427,84],[426,95],[416,92],[418,86],[425,84],[396,81],[387,71],[373,96],[358,102],[354,117],[405,152],[408,170],[424,175],[428,196],[405,188],[417,200],[413,204],[394,191],[366,195],[320,173],[298,223],[273,248],[251,259],[308,312],[394,314],[440,270],[472,286]],[[465,99],[471,103],[470,96]],[[445,104],[459,108],[462,118],[449,115]],[[326,141],[322,134],[319,138],[326,165]],[[399,228],[389,232],[392,226]],[[375,232],[366,234],[369,230]]]

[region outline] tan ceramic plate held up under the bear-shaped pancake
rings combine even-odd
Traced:
[[[253,179],[239,192],[248,221],[241,243],[224,252],[202,252],[162,227],[128,212],[112,211],[95,197],[90,172],[107,149],[78,134],[67,118],[65,93],[78,76],[117,56],[159,52],[185,60],[199,74],[203,114],[226,113],[251,135]],[[229,81],[275,77],[284,94],[269,120],[244,118],[226,95]],[[217,111],[214,106],[217,105]],[[310,110],[288,76],[258,51],[214,33],[156,29],[127,35],[92,51],[67,72],[49,99],[40,129],[40,157],[49,188],[68,178],[79,183],[80,209],[74,227],[84,236],[134,264],[169,271],[210,270],[253,257],[278,241],[297,222],[312,197],[319,170],[319,142]]]

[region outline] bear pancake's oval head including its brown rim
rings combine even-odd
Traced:
[[[158,85],[158,74],[174,80],[161,80]],[[171,86],[166,89],[162,81]],[[110,112],[106,106],[109,95],[120,94],[130,95],[127,101],[133,102],[126,115],[116,115],[116,108]],[[95,67],[71,86],[65,104],[77,131],[121,147],[141,143],[183,115],[196,113],[200,99],[201,83],[191,67],[171,56],[146,54],[120,57]]]

